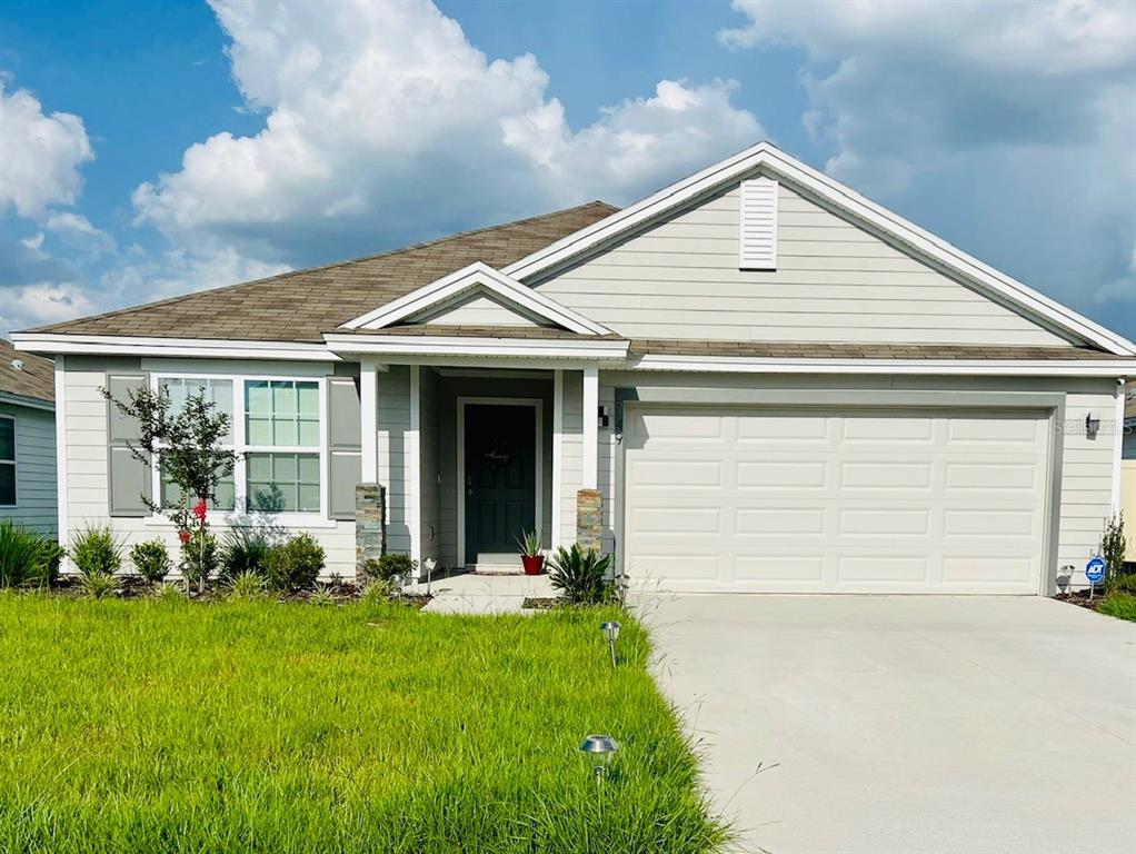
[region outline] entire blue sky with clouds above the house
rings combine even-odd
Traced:
[[[768,139],[1136,338],[1136,2],[0,7],[0,333]]]

